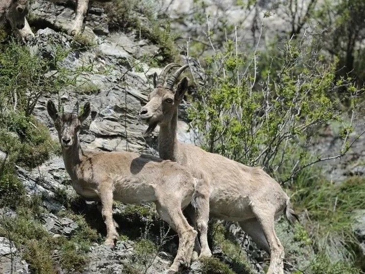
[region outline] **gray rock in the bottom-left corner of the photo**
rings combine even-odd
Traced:
[[[21,253],[9,239],[0,237],[0,273],[28,274],[28,264],[22,260]]]

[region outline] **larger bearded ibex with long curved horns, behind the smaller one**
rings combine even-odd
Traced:
[[[160,158],[176,161],[187,167],[195,177],[204,179],[205,188],[202,189],[209,199],[210,215],[237,221],[256,244],[271,255],[267,273],[283,274],[284,249],[275,234],[274,219],[284,211],[290,222],[297,219],[290,207],[289,197],[261,168],[248,167],[177,140],[178,105],[187,89],[187,78],[184,77],[174,89],[172,85],[181,73],[175,73],[175,78],[170,77],[167,87],[156,87],[159,81],[157,74],[154,75],[155,89],[149,94],[148,103],[140,110],[141,121],[149,125],[145,134],[160,125]],[[205,230],[207,217],[203,217],[201,222],[198,230],[202,227]],[[203,236],[206,237],[205,232]],[[206,240],[200,240],[203,242],[202,250],[204,248],[208,254]]]

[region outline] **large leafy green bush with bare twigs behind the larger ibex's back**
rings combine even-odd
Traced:
[[[334,81],[336,64],[323,64],[307,40],[286,41],[283,46],[276,60],[280,70],[269,69],[258,81],[259,52],[249,58],[228,41],[225,50],[205,59],[205,81],[198,86],[189,117],[204,149],[262,166],[276,178],[285,165],[291,170],[287,178],[280,178],[285,182],[323,160],[318,155],[319,160],[308,163],[308,148],[329,121],[343,123],[339,137],[344,145],[338,154],[349,149],[351,123],[333,94],[346,88],[353,95],[348,98],[353,110],[359,90],[345,79]]]

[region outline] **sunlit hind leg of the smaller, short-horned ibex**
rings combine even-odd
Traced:
[[[179,248],[177,255],[168,270],[168,273],[178,273],[181,265],[188,266],[190,264],[194,239],[197,232],[191,227],[181,210],[181,203],[177,204],[179,197],[161,197],[156,202],[156,209],[160,214],[162,220],[171,225],[171,227],[179,235]]]

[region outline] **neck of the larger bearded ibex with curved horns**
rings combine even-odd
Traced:
[[[174,113],[171,121],[160,125],[159,154],[164,160],[178,161],[182,153],[177,139],[178,110]]]

